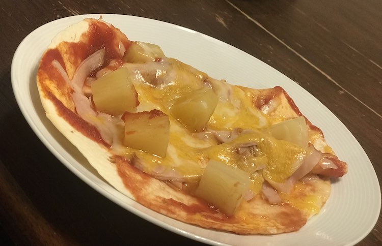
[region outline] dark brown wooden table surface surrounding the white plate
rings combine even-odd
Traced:
[[[20,245],[195,244],[98,194],[32,132],[10,68],[26,35],[88,13],[143,16],[229,43],[281,71],[351,131],[382,179],[382,1],[2,1],[0,225]],[[2,242],[2,241],[0,241]],[[382,244],[382,218],[359,245]]]

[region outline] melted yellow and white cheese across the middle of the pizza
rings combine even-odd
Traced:
[[[263,169],[250,173],[251,190],[258,194],[261,192],[264,178],[283,182],[307,155],[307,150],[302,147],[272,138],[264,133],[265,131],[260,132],[259,129],[266,129],[274,124],[275,120],[254,107],[251,97],[237,86],[209,78],[206,74],[171,58],[164,58],[160,62],[124,66],[130,69],[131,79],[139,95],[140,105],[137,110],[158,109],[170,118],[170,139],[166,157],[157,157],[129,147],[115,148],[127,158],[138,158],[143,164],[141,168],[146,173],[156,176],[158,170],[161,173],[173,171],[186,182],[195,182],[200,179],[210,159],[248,170],[245,157],[237,153],[237,148],[253,142],[258,148],[257,156],[262,158],[262,162],[267,160]],[[227,143],[216,144],[213,140],[200,139],[196,134],[190,133],[170,115],[171,100],[203,86],[211,86],[220,99],[206,127],[218,131],[242,128],[249,129],[250,133],[239,135]]]

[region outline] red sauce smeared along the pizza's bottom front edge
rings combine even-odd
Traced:
[[[261,212],[259,214],[245,212],[242,214],[246,218],[244,221],[240,215],[238,217],[228,217],[214,206],[199,198],[191,197],[189,194],[187,196],[192,201],[190,202],[187,199],[187,203],[190,204],[187,205],[173,198],[164,198],[161,194],[155,194],[152,188],[157,185],[152,185],[151,183],[155,179],[133,167],[125,158],[114,156],[112,163],[116,165],[118,175],[122,179],[124,186],[137,202],[180,221],[197,225],[202,224],[206,228],[215,227],[219,224],[218,228],[220,229],[232,230],[234,228],[239,230],[240,234],[252,233],[254,228],[259,230],[260,234],[268,234],[268,228],[265,226],[268,223],[271,226],[274,225],[273,223],[280,223],[287,232],[296,231],[304,226],[307,221],[301,211],[296,210],[289,204],[279,205],[284,208],[281,211],[275,210],[276,213],[270,213],[269,217],[264,217]],[[182,193],[181,191],[178,192]],[[167,192],[165,191],[164,194],[167,194]],[[248,225],[250,225],[248,228],[246,220],[248,220]],[[252,224],[253,221],[259,224]]]

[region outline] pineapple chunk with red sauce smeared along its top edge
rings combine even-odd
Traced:
[[[123,114],[124,145],[165,157],[169,145],[169,116],[159,110]]]

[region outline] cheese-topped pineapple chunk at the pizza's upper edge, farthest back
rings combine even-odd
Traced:
[[[127,63],[147,63],[165,57],[159,46],[144,42],[134,42],[125,52],[123,59]]]

